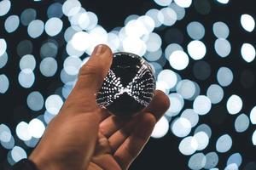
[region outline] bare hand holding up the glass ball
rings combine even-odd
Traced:
[[[29,156],[38,169],[128,169],[143,150],[170,101],[157,90],[148,107],[130,118],[100,108],[96,94],[112,59],[111,49],[98,45],[82,66],[72,93]]]

